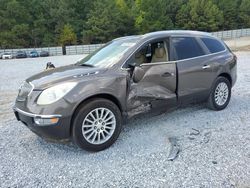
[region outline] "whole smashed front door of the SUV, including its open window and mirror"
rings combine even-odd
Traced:
[[[129,116],[176,105],[176,64],[169,61],[168,40],[152,41],[130,59]]]

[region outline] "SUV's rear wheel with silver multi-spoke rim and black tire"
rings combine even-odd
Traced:
[[[222,92],[220,93],[220,91],[222,91]],[[227,92],[227,94],[226,94],[226,92]],[[230,81],[225,77],[218,77],[215,80],[215,83],[212,87],[212,90],[210,92],[210,95],[209,95],[209,98],[207,101],[208,108],[210,108],[211,110],[216,110],[216,111],[223,110],[227,107],[230,99],[231,99],[231,83],[230,83]]]

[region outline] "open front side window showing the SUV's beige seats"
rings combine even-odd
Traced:
[[[159,63],[169,60],[169,48],[165,41],[147,43],[142,46],[128,61],[128,64]]]

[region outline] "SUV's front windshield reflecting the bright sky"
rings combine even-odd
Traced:
[[[94,67],[108,67],[117,63],[132,48],[138,38],[111,41],[101,49],[83,58],[77,64]]]

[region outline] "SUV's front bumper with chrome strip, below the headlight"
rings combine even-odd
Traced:
[[[24,125],[26,125],[32,132],[37,134],[38,136],[56,139],[56,140],[64,140],[70,138],[70,118],[63,117],[62,115],[39,115],[33,114],[30,112],[25,112],[17,107],[13,107],[13,111],[18,121],[21,121]],[[58,118],[58,122],[50,125],[38,125],[35,122],[35,118],[40,119],[50,119],[50,118]]]

